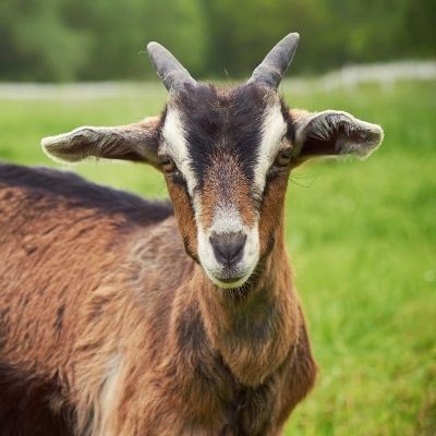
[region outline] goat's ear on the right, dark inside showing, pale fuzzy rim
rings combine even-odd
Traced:
[[[291,110],[291,120],[295,131],[293,167],[313,157],[365,158],[383,140],[379,125],[358,120],[348,112]]]

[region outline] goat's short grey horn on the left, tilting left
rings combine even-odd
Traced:
[[[187,70],[160,44],[149,43],[147,51],[153,66],[169,92],[186,83],[196,84]]]

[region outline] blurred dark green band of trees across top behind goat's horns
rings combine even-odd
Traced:
[[[143,55],[168,46],[196,76],[245,76],[289,32],[295,71],[435,57],[431,0],[3,0],[0,80],[155,76]]]

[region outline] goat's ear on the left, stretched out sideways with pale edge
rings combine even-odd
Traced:
[[[48,136],[41,146],[48,156],[63,162],[87,157],[148,162],[157,167],[160,117],[146,118],[117,128],[83,126]]]

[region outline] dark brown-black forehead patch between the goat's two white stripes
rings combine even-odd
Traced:
[[[268,93],[255,85],[220,94],[213,86],[189,86],[180,93],[175,105],[199,187],[205,183],[213,159],[222,153],[234,158],[249,184],[253,182]]]

